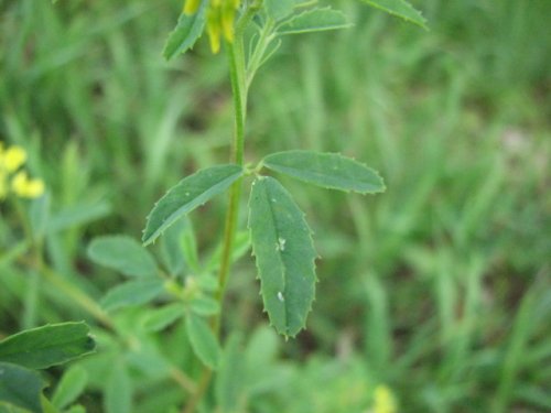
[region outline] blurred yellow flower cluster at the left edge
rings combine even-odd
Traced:
[[[23,148],[4,148],[0,142],[0,200],[10,192],[22,198],[37,198],[44,193],[42,180],[30,180],[25,171],[19,171],[25,161]]]

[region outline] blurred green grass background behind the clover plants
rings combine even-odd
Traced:
[[[403,412],[551,411],[551,2],[415,1],[430,32],[337,3],[353,29],[288,37],[259,73],[247,159],[338,151],[380,171],[388,191],[285,182],[323,257],[317,300],[309,329],[284,343],[266,329],[253,264],[235,267],[226,335],[242,333],[251,370],[238,411],[366,412],[378,384]],[[23,145],[48,187],[46,260],[94,297],[118,279],[86,258],[89,240],[138,239],[169,186],[228,156],[224,56],[202,41],[161,57],[180,6],[0,2],[0,139]],[[0,334],[90,319],[24,270],[18,218],[0,208]],[[203,252],[223,208],[194,217]],[[183,362],[177,337],[152,346]],[[102,356],[87,367],[93,412]],[[134,365],[132,411],[180,402]]]

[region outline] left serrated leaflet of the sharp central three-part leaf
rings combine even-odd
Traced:
[[[148,216],[143,244],[153,242],[176,219],[226,191],[242,173],[242,167],[238,165],[218,165],[182,180],[169,189]]]

